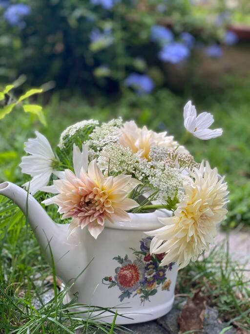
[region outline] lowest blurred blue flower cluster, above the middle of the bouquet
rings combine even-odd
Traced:
[[[154,88],[153,80],[145,74],[131,73],[125,79],[124,83],[125,86],[136,89],[139,94],[148,94]]]

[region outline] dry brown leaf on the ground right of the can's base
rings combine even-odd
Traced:
[[[202,330],[205,309],[206,300],[200,291],[196,292],[193,298],[188,298],[178,318],[180,332]]]

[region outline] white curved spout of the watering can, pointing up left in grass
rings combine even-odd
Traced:
[[[82,244],[86,238],[85,231],[80,236],[76,236],[73,240],[74,243],[68,241],[69,224],[54,223],[38,201],[14,183],[0,183],[0,195],[13,200],[20,207],[27,217],[47,261],[50,264],[53,262],[56,274],[64,283],[75,278],[86,267],[88,260],[85,247]],[[77,269],[77,272],[76,275],[72,276],[73,268]],[[81,279],[83,280],[83,278]]]

